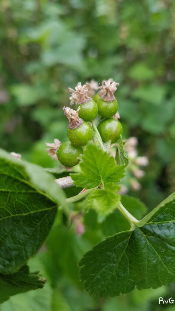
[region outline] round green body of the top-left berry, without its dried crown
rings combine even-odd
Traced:
[[[98,106],[94,100],[89,100],[83,104],[77,104],[76,109],[80,108],[79,110],[79,117],[82,118],[84,121],[92,121],[97,117],[98,114]]]

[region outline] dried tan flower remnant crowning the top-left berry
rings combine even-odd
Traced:
[[[89,83],[86,83],[82,86],[81,82],[78,82],[75,90],[69,87],[69,92],[73,93],[73,95],[70,96],[71,102],[75,102],[76,104],[84,104],[87,101],[91,100],[91,98],[87,95],[89,87]]]

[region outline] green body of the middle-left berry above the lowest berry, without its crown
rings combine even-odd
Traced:
[[[68,138],[74,146],[85,146],[93,137],[92,127],[85,121],[75,128],[68,128]]]

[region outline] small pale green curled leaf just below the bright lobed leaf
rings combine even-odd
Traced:
[[[119,186],[118,190],[120,190]],[[87,208],[93,208],[98,214],[98,219],[102,221],[117,207],[119,198],[119,194],[109,189],[95,189],[87,198]]]

